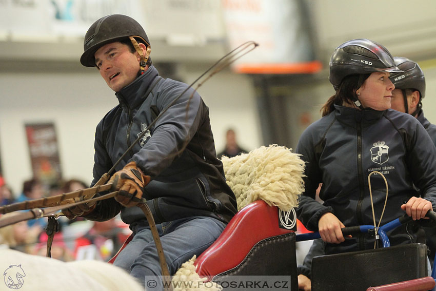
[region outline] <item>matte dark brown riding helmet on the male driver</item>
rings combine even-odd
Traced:
[[[84,53],[80,62],[85,67],[95,67],[94,53],[105,44],[135,36],[150,47],[144,28],[132,17],[122,14],[107,15],[94,22],[85,34]]]

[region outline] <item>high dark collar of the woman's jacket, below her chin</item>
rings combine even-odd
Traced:
[[[371,108],[359,110],[352,107],[346,107],[341,105],[334,105],[335,118],[349,126],[355,126],[357,123],[361,123],[362,126],[369,126],[378,121],[386,110],[379,111]]]

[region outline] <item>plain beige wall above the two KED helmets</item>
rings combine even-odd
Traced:
[[[319,53],[327,61],[333,49],[353,38],[369,38],[393,55],[422,60],[435,57],[433,0],[307,0]],[[418,61],[418,60],[417,60]]]

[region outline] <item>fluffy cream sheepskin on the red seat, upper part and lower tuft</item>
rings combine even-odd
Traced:
[[[262,199],[268,205],[288,211],[298,206],[298,198],[304,191],[304,162],[292,149],[270,145],[254,149],[233,158],[223,157],[227,184],[236,197],[237,209]],[[195,271],[195,256],[184,263],[172,278],[174,291],[222,290],[218,284],[202,284]],[[195,288],[183,288],[181,282],[191,281]],[[210,283],[210,282],[209,282]]]

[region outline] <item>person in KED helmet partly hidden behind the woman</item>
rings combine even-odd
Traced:
[[[436,125],[431,124],[425,117],[422,110],[422,99],[425,96],[425,77],[420,66],[406,57],[395,56],[395,64],[404,73],[392,74],[389,79],[395,85],[392,91],[391,109],[411,114],[427,130],[431,140],[436,146]],[[429,259],[433,264],[436,254],[436,229],[424,228],[426,233],[426,244],[429,248]]]

